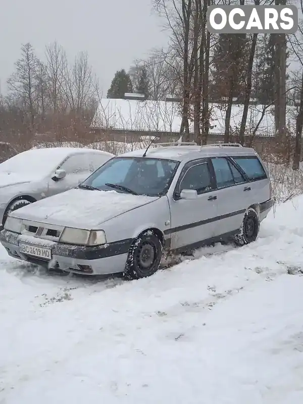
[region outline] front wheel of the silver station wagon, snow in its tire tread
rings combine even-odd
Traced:
[[[162,254],[162,243],[153,231],[140,234],[129,249],[124,278],[134,280],[153,275],[160,267]]]

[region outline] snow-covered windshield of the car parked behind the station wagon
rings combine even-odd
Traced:
[[[0,172],[45,175],[55,170],[67,156],[67,151],[60,148],[27,150],[1,163]]]

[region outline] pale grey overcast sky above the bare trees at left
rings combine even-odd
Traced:
[[[168,34],[151,12],[151,0],[0,0],[0,79],[6,81],[30,42],[39,58],[45,44],[57,40],[69,59],[87,51],[106,92],[115,72],[129,69],[153,47],[165,46]]]

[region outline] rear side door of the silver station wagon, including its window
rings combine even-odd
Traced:
[[[227,157],[212,157],[211,162],[218,198],[215,235],[228,235],[241,227],[245,210],[249,207],[249,187],[244,176]]]

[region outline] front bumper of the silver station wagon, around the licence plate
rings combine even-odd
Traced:
[[[87,274],[107,275],[124,271],[132,239],[120,240],[105,246],[85,247],[48,241],[33,236],[24,236],[3,230],[0,242],[11,257],[63,271]],[[52,260],[29,256],[20,251],[19,242],[52,250]]]

